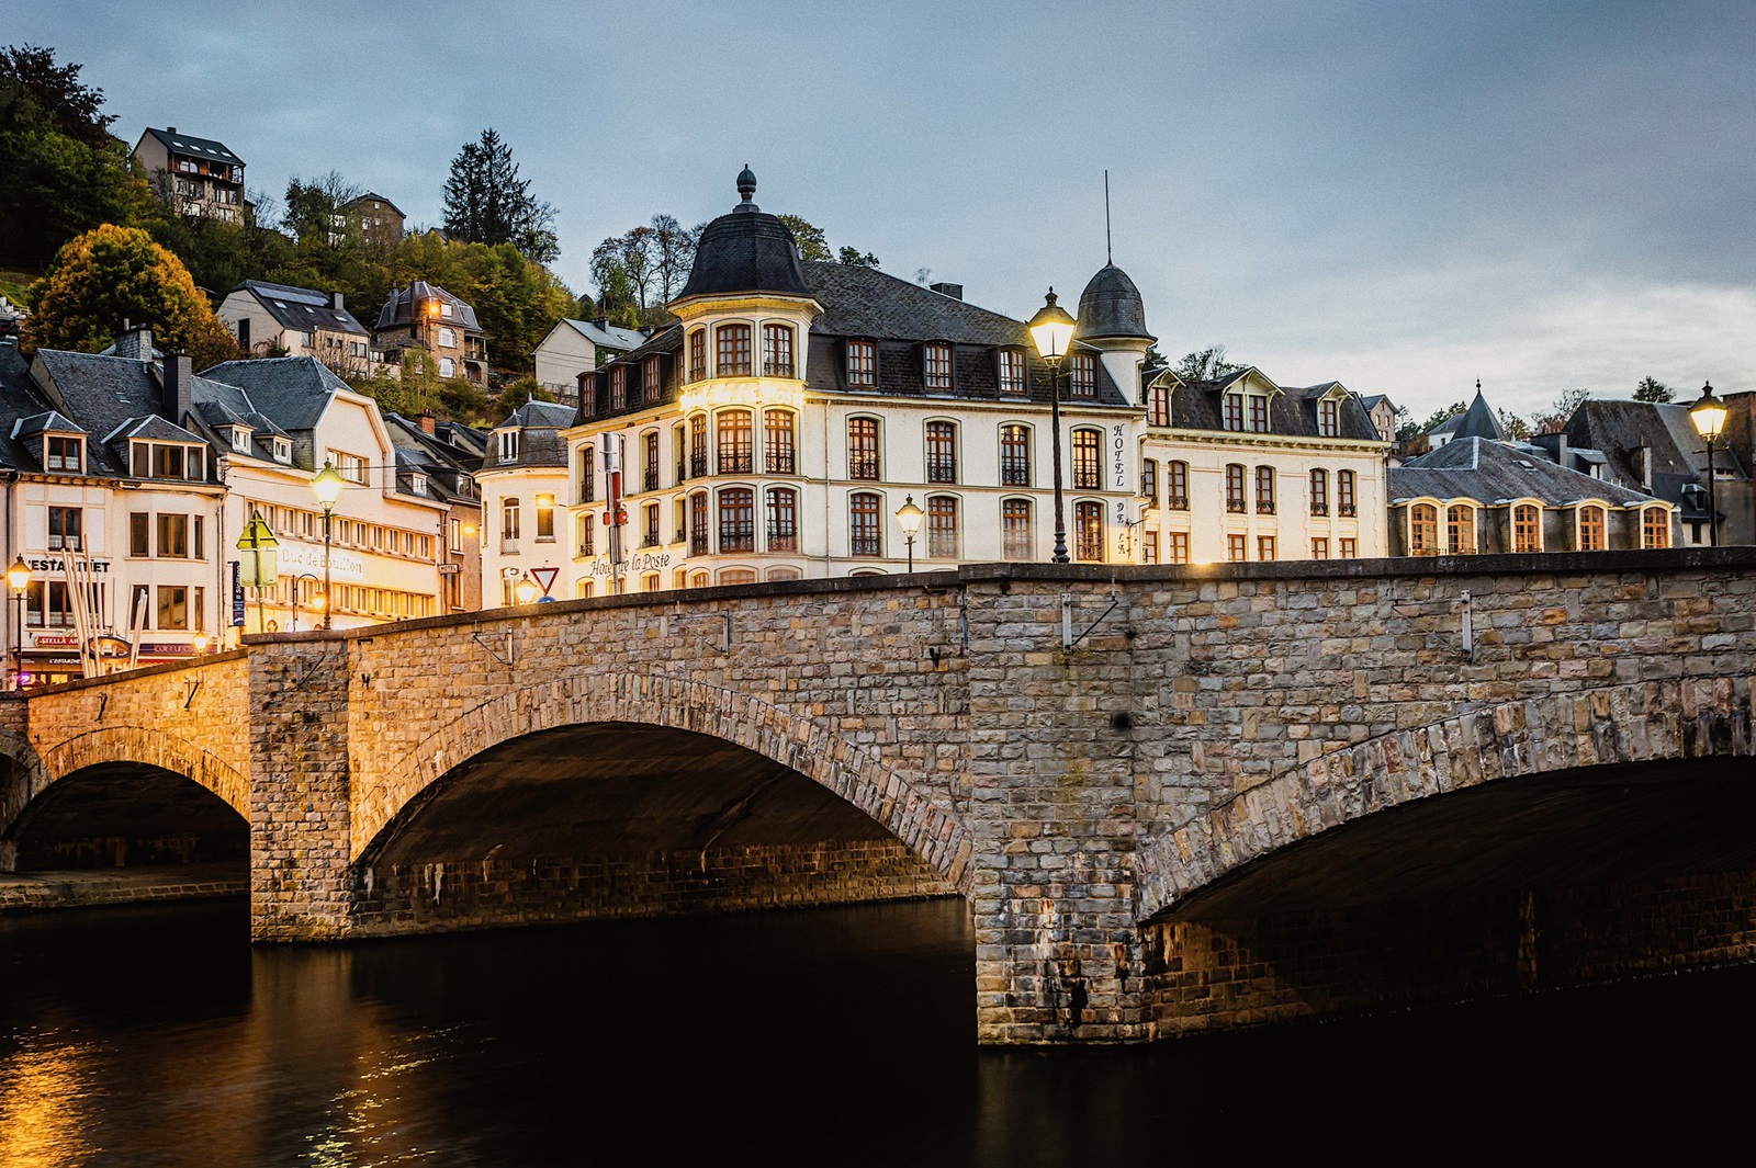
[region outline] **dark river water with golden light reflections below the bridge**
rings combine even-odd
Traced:
[[[1749,966],[1150,1049],[980,1050],[961,901],[251,949],[0,917],[0,1166],[1709,1163]],[[1747,1150],[1738,1156],[1747,1163]]]

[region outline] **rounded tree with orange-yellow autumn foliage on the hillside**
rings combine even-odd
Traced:
[[[121,323],[151,324],[162,349],[207,368],[237,356],[188,268],[139,228],[104,224],[68,240],[32,284],[25,349],[104,349]]]

